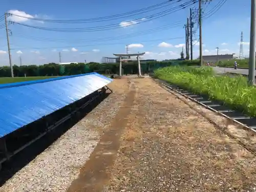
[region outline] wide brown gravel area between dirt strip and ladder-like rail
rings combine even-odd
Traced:
[[[133,81],[109,192],[256,191],[253,154],[152,79]]]

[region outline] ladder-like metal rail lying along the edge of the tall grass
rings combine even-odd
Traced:
[[[242,112],[230,109],[228,106],[224,105],[221,102],[210,100],[206,96],[196,95],[194,93],[191,93],[185,89],[181,89],[180,87],[172,84],[162,83],[162,85],[172,90],[185,98],[190,99],[191,101],[194,101],[202,106],[204,106],[206,109],[209,109],[223,117],[226,117],[230,119],[231,121],[234,121],[246,129],[252,130],[253,132],[256,132],[256,118],[255,117],[249,117],[244,115]]]

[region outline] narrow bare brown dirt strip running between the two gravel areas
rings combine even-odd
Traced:
[[[104,188],[108,189],[109,180],[111,178],[111,168],[115,163],[119,149],[120,136],[124,127],[126,127],[127,117],[130,115],[131,106],[134,104],[135,97],[133,82],[131,83],[131,81],[127,79],[116,80],[115,84],[110,86],[116,88],[116,90],[114,90],[115,92],[120,91],[117,89],[117,83],[119,83],[120,88],[130,84],[130,89],[126,92],[126,98],[116,116],[111,120],[108,129],[104,130],[104,134],[91,154],[90,159],[80,169],[78,179],[72,182],[68,192],[102,191]],[[121,88],[121,90],[123,89]]]

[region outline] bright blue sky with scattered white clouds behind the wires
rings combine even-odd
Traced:
[[[13,65],[19,65],[20,58],[23,65],[58,63],[59,52],[61,62],[84,62],[85,60],[100,62],[102,57],[114,57],[113,53],[126,53],[126,45],[129,47],[129,53],[145,52],[143,59],[178,58],[185,44],[183,27],[189,16],[189,8],[198,8],[198,2],[180,9],[177,6],[188,5],[189,0],[172,0],[162,6],[137,11],[165,1],[44,0],[36,4],[31,0],[3,1],[0,6],[0,66],[9,65],[5,22],[1,19],[3,18],[1,15],[5,12],[14,14],[7,18],[10,21],[8,29]],[[217,10],[216,6],[223,1],[212,0],[202,6],[203,54],[217,54],[216,48],[219,47],[219,54],[235,53],[238,56],[240,35],[243,31],[243,54],[247,56],[249,54],[250,1],[227,0]],[[134,12],[123,14],[131,11]],[[117,14],[123,15],[109,17],[111,19],[95,19],[93,23],[77,24],[75,21],[63,23],[63,20],[91,19],[92,21],[92,18]],[[194,58],[199,55],[196,14],[195,10]],[[55,19],[61,22],[49,23],[48,20],[38,19],[50,21]],[[111,29],[106,30],[106,27],[102,27],[107,25]],[[42,30],[38,27],[58,30]],[[78,28],[83,28],[83,31],[78,31]],[[59,29],[65,30],[59,31]]]

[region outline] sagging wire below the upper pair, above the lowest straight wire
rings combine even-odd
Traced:
[[[169,24],[169,25],[165,25],[162,27],[158,27],[158,28],[153,28],[150,30],[145,30],[145,31],[141,31],[139,33],[131,33],[131,34],[127,34],[127,35],[119,35],[119,36],[112,36],[112,37],[103,37],[103,38],[96,38],[96,39],[72,39],[75,41],[83,41],[83,42],[95,42],[95,41],[109,41],[109,40],[120,40],[120,39],[126,39],[126,38],[131,38],[131,37],[136,37],[136,36],[142,36],[142,35],[146,35],[146,34],[152,34],[155,32],[159,32],[159,31],[163,31],[163,30],[167,30],[167,29],[171,29],[171,28],[175,28],[175,27],[180,27],[182,25],[181,22],[177,22],[174,24]],[[14,34],[14,37],[20,37],[20,38],[25,38],[25,39],[31,39],[31,40],[39,40],[39,41],[69,41],[69,39],[50,39],[50,38],[41,38],[41,37],[33,37],[33,36],[25,36],[25,35],[19,35],[19,34]]]

